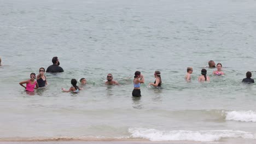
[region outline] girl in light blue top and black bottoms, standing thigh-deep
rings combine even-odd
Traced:
[[[141,83],[144,83],[144,76],[141,75],[141,71],[135,71],[133,80],[132,97],[141,97]]]

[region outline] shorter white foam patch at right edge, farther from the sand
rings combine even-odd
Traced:
[[[241,121],[241,122],[256,122],[256,112],[229,111],[229,112],[226,112],[226,120]]]

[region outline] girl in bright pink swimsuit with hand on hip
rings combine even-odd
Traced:
[[[38,83],[34,79],[36,79],[36,74],[35,73],[31,73],[30,74],[30,80],[22,81],[22,82],[20,82],[20,85],[22,87],[24,87],[27,92],[34,92],[34,89],[38,88]],[[23,85],[25,83],[26,83],[26,87]]]

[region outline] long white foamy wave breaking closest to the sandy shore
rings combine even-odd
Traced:
[[[255,139],[254,134],[245,131],[234,130],[170,130],[161,131],[156,129],[129,128],[133,138],[148,139],[150,141],[218,141],[222,138]]]

